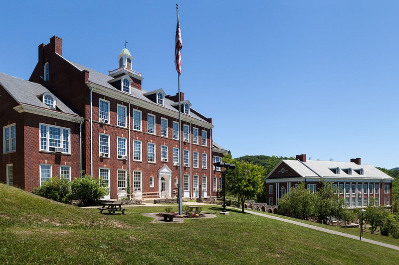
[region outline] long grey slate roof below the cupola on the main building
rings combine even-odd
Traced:
[[[59,54],[57,54],[57,55],[60,56]],[[112,78],[112,77],[110,77],[110,76],[108,76],[108,75],[102,74],[102,73],[100,73],[100,72],[97,72],[97,71],[95,71],[95,70],[93,70],[93,69],[90,69],[90,68],[88,68],[88,67],[82,66],[82,65],[80,65],[80,64],[71,62],[71,61],[65,59],[65,58],[62,57],[62,56],[60,56],[60,57],[63,58],[65,61],[69,62],[71,65],[75,66],[75,67],[76,67],[77,69],[79,69],[80,71],[83,71],[83,70],[88,71],[88,72],[89,72],[89,82],[94,83],[94,84],[97,84],[97,85],[100,85],[100,86],[105,87],[105,88],[109,88],[109,89],[114,90],[114,91],[121,92],[120,90],[114,88],[112,85],[110,85],[110,84],[108,83],[109,81],[113,80],[114,78]],[[174,111],[174,112],[179,113],[179,110],[172,106],[172,104],[175,104],[175,103],[176,103],[175,101],[170,100],[170,99],[168,99],[168,98],[164,98],[164,106],[161,106],[161,105],[159,105],[159,104],[153,102],[152,100],[148,99],[148,98],[144,95],[145,93],[148,93],[148,92],[150,92],[150,91],[147,91],[147,90],[144,90],[144,89],[143,89],[143,90],[140,90],[140,89],[131,89],[131,96],[134,97],[134,98],[143,100],[143,101],[145,101],[145,102],[148,102],[148,103],[157,105],[157,106],[159,106],[159,107],[165,107],[165,108],[168,109],[168,110],[172,110],[172,111]],[[123,93],[123,92],[121,92],[121,93]],[[124,93],[124,94],[125,94],[125,93]],[[187,115],[187,114],[184,114],[184,115]],[[192,117],[192,118],[194,118],[194,119],[203,121],[203,122],[208,122],[208,121],[206,121],[205,119],[203,119],[203,118],[201,118],[200,116],[198,116],[198,115],[196,115],[195,113],[193,113],[192,111],[190,111],[190,115],[189,115],[189,116]]]

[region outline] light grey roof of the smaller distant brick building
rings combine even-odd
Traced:
[[[298,177],[326,177],[326,178],[372,178],[372,179],[388,179],[394,178],[388,176],[384,172],[375,168],[372,165],[361,164],[357,165],[354,162],[337,162],[337,161],[319,161],[307,160],[301,162],[299,160],[282,160],[291,169],[298,173]],[[339,168],[339,174],[335,174],[335,169]],[[352,174],[347,174],[344,170],[351,168]],[[360,175],[357,170],[363,169],[363,175]]]

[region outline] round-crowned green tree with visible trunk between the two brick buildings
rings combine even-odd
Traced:
[[[244,212],[244,202],[255,198],[262,189],[264,170],[253,163],[232,159],[230,154],[224,155],[223,162],[235,164],[233,173],[226,176],[226,191],[238,197]]]

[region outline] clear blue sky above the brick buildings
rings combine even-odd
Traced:
[[[37,46],[102,73],[128,41],[143,88],[182,91],[244,155],[399,167],[399,1],[1,1],[0,72],[29,79]]]

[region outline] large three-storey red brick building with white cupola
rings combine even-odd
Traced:
[[[107,198],[173,197],[181,155],[184,197],[199,196],[200,185],[201,196],[215,196],[220,173],[212,162],[226,150],[212,140],[212,119],[181,93],[179,128],[178,94],[143,90],[126,48],[115,65],[105,75],[71,62],[54,36],[39,45],[29,82],[0,75],[0,181],[30,191],[83,170],[103,178]]]

